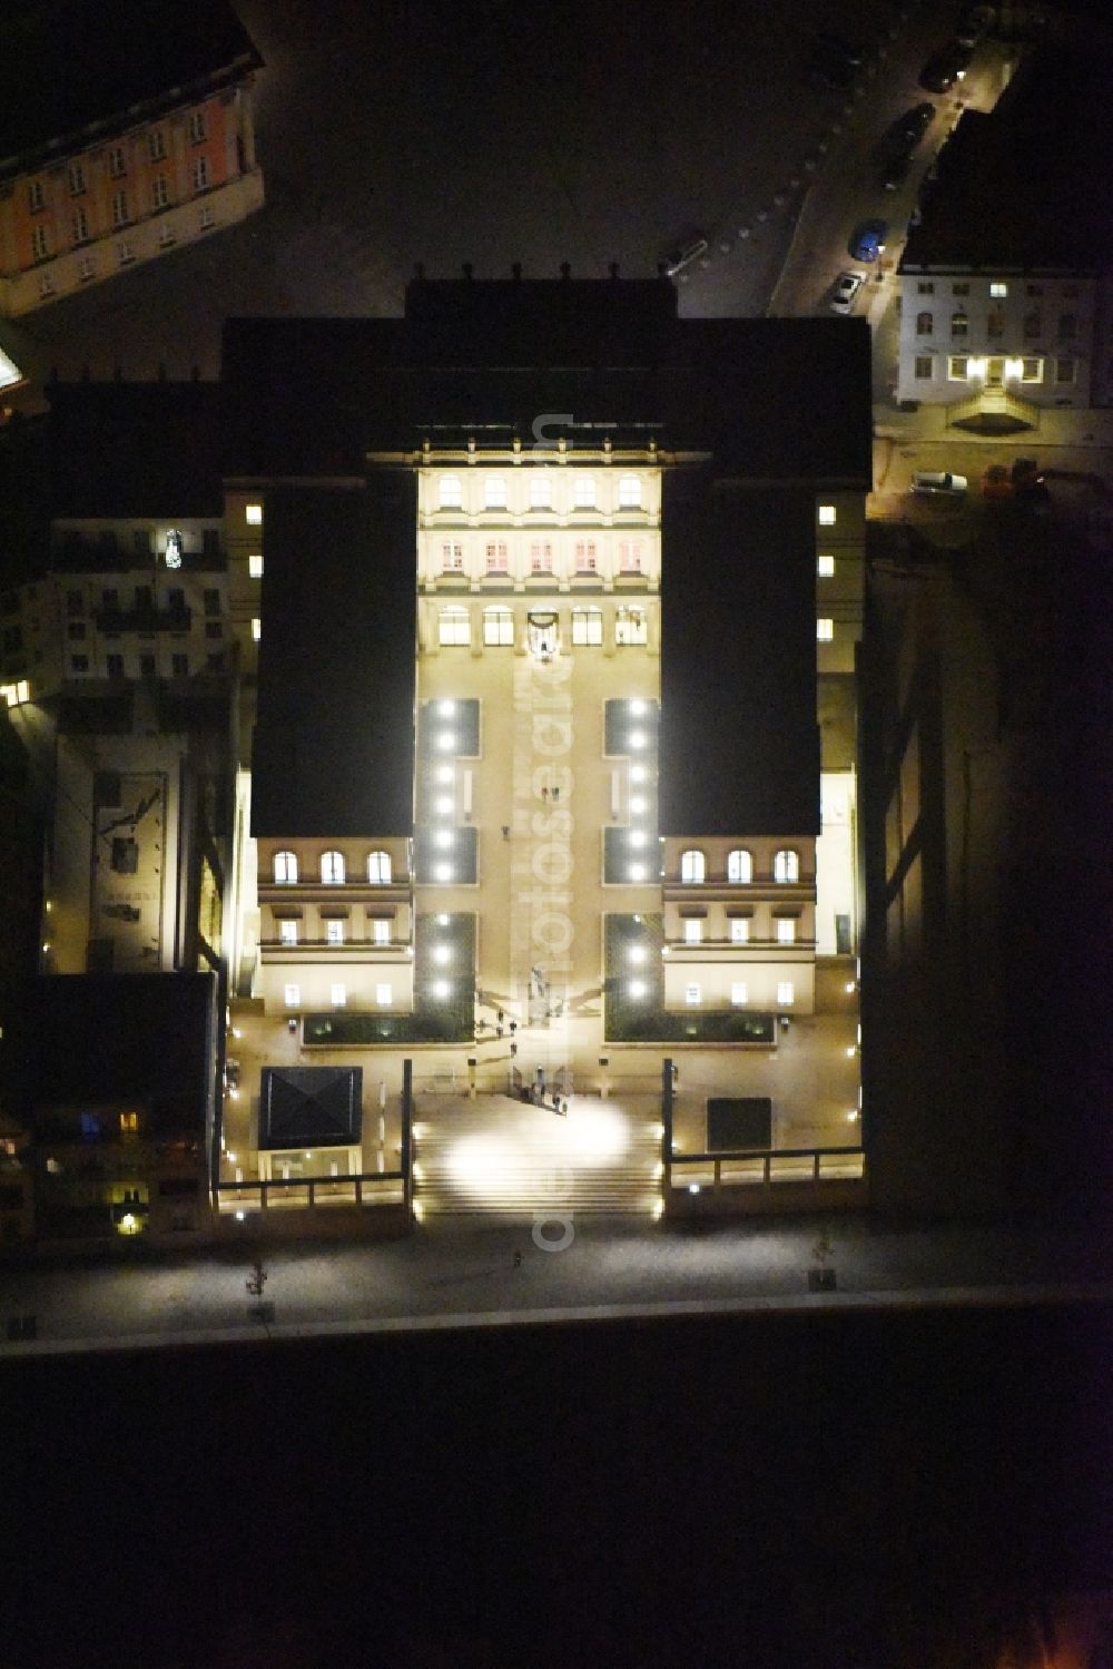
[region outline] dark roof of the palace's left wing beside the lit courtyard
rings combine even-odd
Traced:
[[[255,836],[414,828],[415,484],[264,496]]]

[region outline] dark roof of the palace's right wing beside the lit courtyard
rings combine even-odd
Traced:
[[[818,834],[814,494],[664,479],[662,834]]]

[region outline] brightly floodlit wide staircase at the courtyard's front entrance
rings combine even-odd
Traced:
[[[649,1217],[661,1198],[657,1117],[587,1095],[571,1097],[566,1115],[507,1095],[422,1095],[414,1117],[419,1213]]]

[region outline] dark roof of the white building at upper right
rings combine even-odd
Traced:
[[[1088,37],[1090,38],[1090,37]],[[1088,272],[1113,259],[1106,37],[1035,53],[990,113],[968,110],[939,155],[901,270]]]

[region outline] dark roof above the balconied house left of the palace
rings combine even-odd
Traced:
[[[55,516],[220,516],[215,382],[50,384]]]

